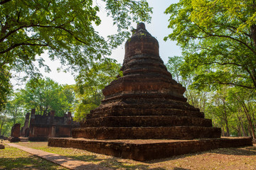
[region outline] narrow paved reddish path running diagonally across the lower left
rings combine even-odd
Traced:
[[[105,168],[103,166],[92,164],[91,162],[78,161],[76,159],[64,157],[59,154],[52,154],[52,153],[45,152],[42,150],[32,149],[30,147],[23,147],[21,145],[16,145],[14,143],[6,143],[6,145],[9,145],[10,147],[16,147],[18,149],[21,149],[25,152],[28,152],[30,154],[33,154],[33,155],[36,155],[43,159],[46,159],[55,164],[59,164],[60,166],[64,166],[68,169],[107,170],[107,168]],[[108,170],[110,170],[110,169],[108,169]]]

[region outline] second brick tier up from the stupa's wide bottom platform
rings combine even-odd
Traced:
[[[171,127],[171,126],[212,127],[210,119],[188,116],[107,116],[91,118],[80,122],[80,127]]]

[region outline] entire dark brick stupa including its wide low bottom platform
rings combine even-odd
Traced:
[[[100,106],[73,129],[73,138],[50,138],[48,146],[146,161],[252,145],[250,137],[220,138],[220,128],[186,102],[186,89],[172,79],[159,57],[159,43],[144,23],[125,44],[122,72],[103,89]]]

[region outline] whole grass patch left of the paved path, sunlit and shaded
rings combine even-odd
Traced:
[[[0,150],[0,169],[65,169],[15,147]]]

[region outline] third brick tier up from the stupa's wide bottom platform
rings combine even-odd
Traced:
[[[90,118],[100,118],[102,116],[136,116],[136,115],[176,115],[188,116],[195,118],[204,118],[204,114],[200,111],[181,110],[176,108],[105,108],[102,110],[93,110],[86,116]]]

